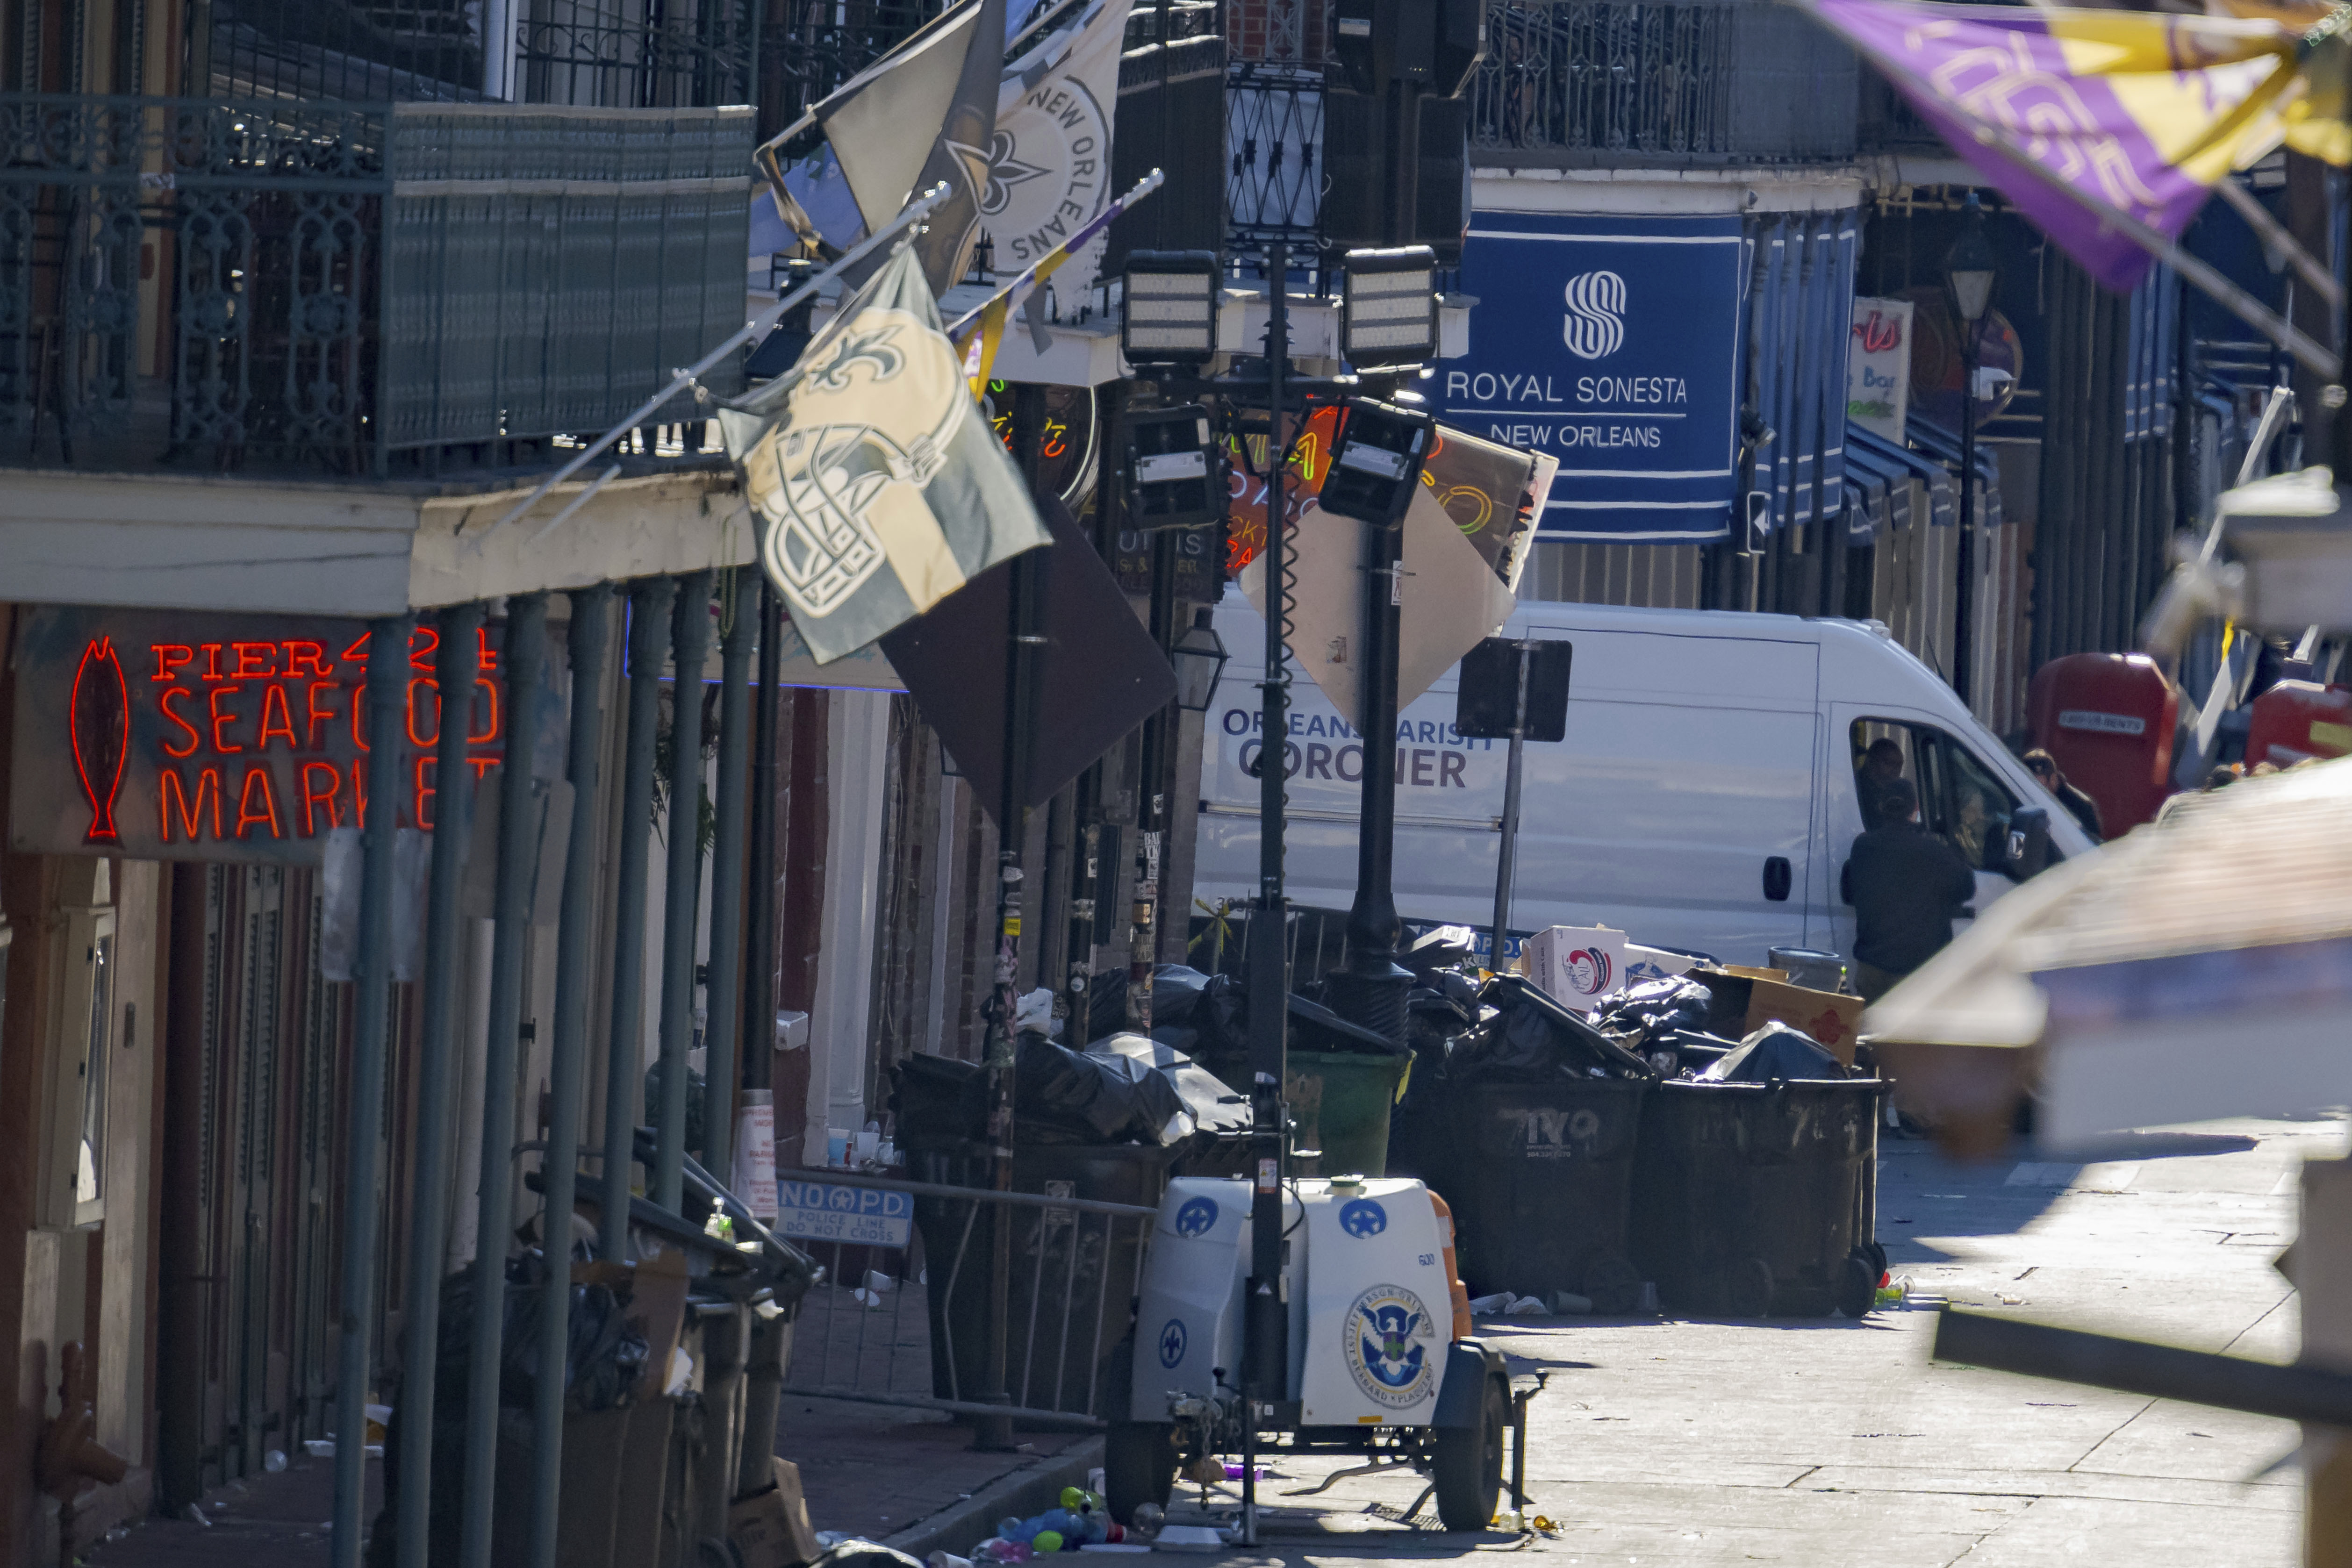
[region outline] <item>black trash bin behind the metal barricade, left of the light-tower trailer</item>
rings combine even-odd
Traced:
[[[1014,1154],[1014,1192],[1157,1208],[1174,1147],[1035,1145]],[[908,1150],[917,1182],[988,1187],[985,1145]],[[1000,1204],[917,1197],[931,1394],[988,1392],[988,1279]],[[1011,1229],[1007,1394],[1028,1410],[1101,1410],[1110,1349],[1127,1335],[1143,1281],[1143,1215],[1002,1206]]]

